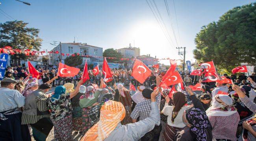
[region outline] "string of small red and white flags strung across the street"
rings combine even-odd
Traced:
[[[3,48],[0,48],[0,53],[6,53],[6,54],[9,54],[9,55],[14,55],[14,54],[21,54],[21,53],[24,53],[26,56],[30,56],[30,55],[43,55],[43,53],[46,53],[46,51],[31,51],[30,49],[26,49],[26,50],[20,50],[20,49],[13,49],[12,47],[10,46],[5,46]],[[60,54],[62,56],[82,56],[82,57],[94,57],[94,58],[108,58],[108,59],[120,59],[121,61],[124,61],[124,60],[135,60],[135,58],[115,58],[115,57],[102,57],[102,56],[89,56],[89,55],[81,55],[80,53],[77,53],[77,54],[65,54],[65,53],[60,53],[59,51],[48,51],[49,54]],[[147,58],[140,58],[140,60],[150,60],[150,59],[147,59]],[[174,60],[174,59],[170,59],[170,58],[156,58],[154,59],[154,61],[158,61],[158,60],[173,60],[173,61],[178,61],[178,60],[181,60],[181,59],[178,59],[178,60]]]

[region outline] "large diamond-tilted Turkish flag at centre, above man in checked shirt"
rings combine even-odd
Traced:
[[[132,76],[139,83],[143,84],[145,80],[150,76],[151,70],[142,61],[135,60],[134,66],[132,67]]]

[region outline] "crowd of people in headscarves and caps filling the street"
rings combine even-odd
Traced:
[[[54,127],[56,141],[255,141],[255,74],[223,74],[234,85],[202,82],[189,71],[180,71],[186,86],[174,92],[161,89],[166,71],[152,72],[141,84],[132,70],[113,69],[106,83],[102,72],[89,70],[89,80],[60,78],[58,67],[35,67],[32,78],[22,66],[8,67],[0,82],[0,141],[45,141]],[[126,88],[133,84],[132,94]],[[53,93],[48,91],[55,87]],[[228,93],[219,94],[219,91]],[[46,94],[47,93],[47,94]]]

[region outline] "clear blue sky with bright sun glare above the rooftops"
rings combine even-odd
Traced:
[[[203,25],[217,21],[229,9],[253,0],[167,0],[178,45],[170,45],[146,0],[0,0],[0,9],[16,20],[40,29],[42,49],[52,49],[51,41],[87,43],[103,49],[119,49],[129,43],[141,55],[180,59],[176,46],[187,47],[186,60],[193,59],[195,35]],[[149,0],[148,0],[149,1]],[[167,29],[172,34],[164,0],[155,0]],[[0,11],[0,22],[9,21]],[[10,17],[9,17],[10,18]],[[171,36],[175,42],[174,36]],[[193,59],[195,61],[195,59]]]

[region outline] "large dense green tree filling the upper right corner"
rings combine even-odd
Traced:
[[[194,57],[230,71],[256,59],[256,3],[234,7],[217,22],[203,26],[195,38]]]

